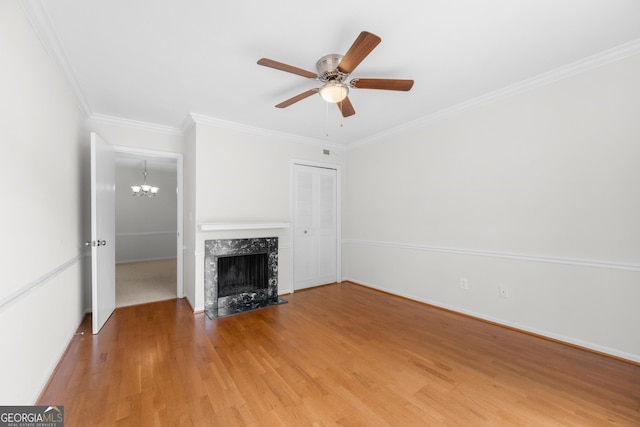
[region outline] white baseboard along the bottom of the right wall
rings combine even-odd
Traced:
[[[378,292],[382,292],[385,294],[389,294],[389,295],[393,295],[396,297],[400,297],[400,298],[404,298],[410,301],[414,301],[414,302],[418,302],[421,304],[425,304],[428,305],[430,307],[433,308],[437,308],[439,310],[444,310],[444,311],[448,311],[450,313],[455,313],[461,316],[465,316],[465,317],[469,317],[471,319],[474,320],[479,320],[481,322],[485,322],[485,323],[489,323],[495,326],[499,326],[502,328],[507,328],[507,329],[511,329],[513,331],[516,332],[520,332],[523,334],[527,334],[527,335],[531,335],[537,338],[541,338],[547,341],[552,341],[558,344],[562,344],[562,345],[566,345],[568,347],[573,347],[573,348],[577,348],[580,350],[584,350],[593,354],[597,354],[599,356],[604,356],[604,357],[608,357],[610,359],[614,359],[614,360],[618,360],[621,362],[625,362],[625,363],[629,363],[631,365],[634,366],[640,366],[640,357],[630,354],[630,353],[626,353],[626,352],[622,352],[622,351],[618,351],[618,350],[614,350],[608,347],[603,347],[597,344],[592,344],[589,342],[584,342],[581,340],[577,340],[577,339],[573,339],[573,338],[569,338],[569,337],[564,337],[561,335],[556,335],[556,334],[552,334],[552,333],[548,333],[545,331],[539,331],[536,330],[534,328],[529,328],[526,327],[524,325],[519,325],[516,323],[511,323],[511,322],[506,322],[504,320],[501,319],[496,319],[493,318],[491,316],[485,316],[482,315],[480,313],[475,313],[469,310],[465,310],[459,307],[454,307],[454,306],[450,306],[447,304],[442,304],[438,301],[433,301],[433,300],[429,300],[426,298],[419,298],[416,297],[414,295],[410,295],[410,294],[406,294],[406,293],[401,293],[401,292],[397,292],[394,291],[392,289],[387,289],[381,286],[376,286],[370,283],[364,283],[361,281],[357,281],[357,280],[353,280],[353,279],[343,279],[343,283],[347,282],[347,283],[351,283],[353,285],[356,286],[362,286],[368,289],[372,289]]]

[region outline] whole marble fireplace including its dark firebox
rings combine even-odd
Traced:
[[[278,297],[278,238],[205,240],[204,307],[222,317],[286,302]]]

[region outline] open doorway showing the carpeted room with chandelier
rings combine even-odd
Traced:
[[[115,169],[116,307],[182,298],[182,155],[115,147]]]

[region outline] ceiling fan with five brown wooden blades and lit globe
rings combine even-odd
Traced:
[[[375,34],[363,31],[344,55],[330,54],[320,58],[318,62],[316,62],[317,73],[268,58],[260,59],[258,64],[297,74],[309,79],[319,80],[323,83],[319,88],[309,89],[306,92],[302,92],[281,102],[276,105],[276,108],[286,108],[315,93],[319,93],[325,101],[335,103],[343,117],[349,117],[356,113],[348,97],[349,89],[381,89],[406,92],[413,86],[413,80],[400,79],[355,78],[346,83],[347,77],[349,77],[353,70],[355,70],[381,41],[382,39]]]

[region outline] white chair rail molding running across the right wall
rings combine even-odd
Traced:
[[[405,250],[417,250],[417,251],[423,251],[423,252],[515,259],[519,261],[575,265],[580,267],[604,268],[609,270],[640,271],[640,265],[635,265],[635,264],[623,264],[623,263],[560,258],[560,257],[540,256],[540,255],[513,254],[513,253],[506,253],[506,252],[481,251],[481,250],[475,250],[475,249],[443,248],[443,247],[428,246],[428,245],[378,242],[378,241],[372,241],[372,240],[357,240],[357,239],[344,239],[342,240],[342,244],[343,245],[349,244],[349,245],[378,246],[378,247],[388,247],[388,248],[405,249]]]

